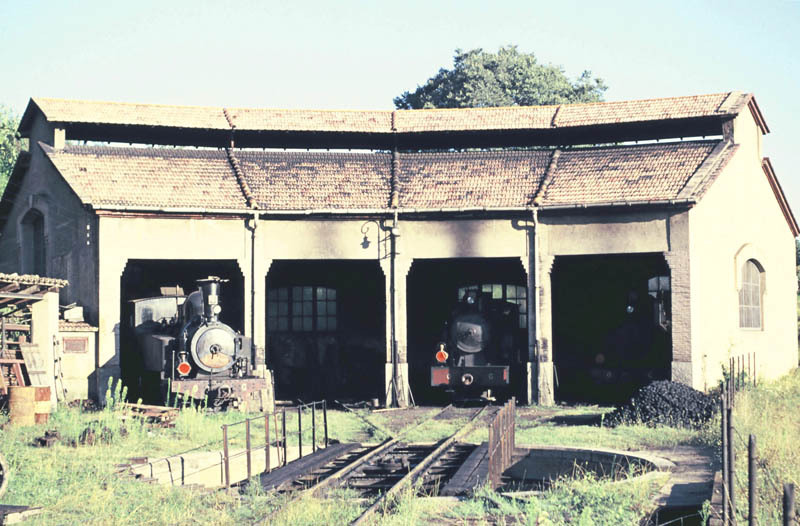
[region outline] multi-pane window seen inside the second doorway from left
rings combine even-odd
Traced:
[[[267,330],[329,332],[336,327],[336,289],[294,286],[267,291]]]

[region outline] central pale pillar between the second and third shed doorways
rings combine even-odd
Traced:
[[[392,362],[392,291],[391,291],[391,260],[389,257],[380,261],[381,270],[386,280],[386,365],[384,372],[384,391],[386,405],[394,403],[396,390],[397,403],[406,407],[409,402],[408,387],[408,304],[407,304],[407,277],[411,269],[411,259],[397,257],[395,259],[394,283],[394,340],[397,345],[397,363]],[[396,371],[395,371],[396,367]],[[397,385],[394,385],[394,382]],[[396,389],[394,389],[396,387]]]

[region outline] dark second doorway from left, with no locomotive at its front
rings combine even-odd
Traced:
[[[377,261],[276,260],[267,365],[281,400],[382,398],[386,281]]]

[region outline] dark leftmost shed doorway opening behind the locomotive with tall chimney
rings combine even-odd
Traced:
[[[233,330],[244,332],[244,276],[232,259],[131,259],[120,279],[120,369],[128,400],[161,403],[158,382],[143,374],[141,354],[133,334],[131,300],[161,296],[161,287],[180,287],[184,295],[197,290],[197,280],[209,276],[227,279],[222,285],[219,319]],[[158,321],[158,320],[154,320]]]

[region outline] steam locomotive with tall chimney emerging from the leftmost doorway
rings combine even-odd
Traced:
[[[217,277],[198,280],[198,290],[130,302],[127,336],[135,339],[128,362],[139,371],[143,398],[160,393],[208,400],[209,407],[239,407],[258,400],[266,380],[253,375],[250,339],[219,321]]]

